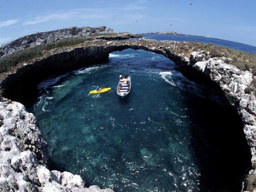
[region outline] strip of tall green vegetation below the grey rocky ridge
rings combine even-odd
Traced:
[[[26,48],[15,52],[13,54],[0,58],[0,73],[7,72],[11,67],[16,66],[18,63],[26,62],[30,59],[35,59],[43,56],[44,52],[52,50],[54,48],[64,48],[76,44],[80,44],[91,38],[69,38],[62,39],[56,42],[50,42],[47,44],[37,45],[32,48]]]

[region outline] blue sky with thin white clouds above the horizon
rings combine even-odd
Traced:
[[[100,25],[115,32],[175,31],[256,46],[256,0],[0,0],[0,45],[36,32]]]

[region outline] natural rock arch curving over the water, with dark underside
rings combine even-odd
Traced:
[[[220,58],[211,58],[206,45],[201,48],[191,42],[170,42],[156,40],[106,41],[94,40],[66,48],[45,51],[44,56],[18,64],[12,72],[4,73],[0,80],[2,87],[11,90],[23,79],[37,82],[57,72],[66,72],[108,61],[111,52],[124,49],[143,49],[162,54],[174,61],[177,69],[186,77],[201,82],[217,84],[244,124],[244,133],[252,153],[252,166],[256,167],[256,100],[253,93],[246,94],[253,75],[226,64]],[[204,49],[205,48],[205,49]],[[81,184],[82,185],[82,184]]]

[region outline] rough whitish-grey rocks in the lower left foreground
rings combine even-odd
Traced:
[[[46,142],[36,118],[18,102],[0,102],[0,191],[112,192],[85,188],[78,175],[50,171]]]

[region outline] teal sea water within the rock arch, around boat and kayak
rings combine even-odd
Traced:
[[[132,82],[125,99],[120,73]],[[112,90],[89,94],[96,86]],[[187,80],[164,56],[113,52],[38,89],[31,112],[50,168],[116,192],[240,191],[250,166],[240,118],[220,90]]]

